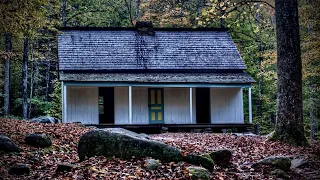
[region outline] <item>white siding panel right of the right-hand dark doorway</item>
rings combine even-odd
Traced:
[[[241,88],[211,88],[211,123],[244,123]]]

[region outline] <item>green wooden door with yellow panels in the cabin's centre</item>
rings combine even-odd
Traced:
[[[163,89],[149,88],[148,97],[150,124],[163,124]]]

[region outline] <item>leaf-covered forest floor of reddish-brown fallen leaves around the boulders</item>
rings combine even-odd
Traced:
[[[190,179],[187,163],[161,162],[157,170],[147,170],[144,159],[131,160],[92,157],[79,162],[77,143],[90,128],[78,124],[39,124],[22,120],[0,119],[0,134],[10,137],[23,151],[0,153],[0,179]],[[53,139],[50,148],[35,148],[24,142],[29,133],[45,133]],[[263,168],[250,166],[268,156],[309,156],[309,162],[300,171],[290,171],[290,179],[320,178],[320,143],[310,147],[293,147],[282,142],[270,142],[261,136],[235,136],[214,133],[163,133],[150,135],[151,139],[176,146],[183,153],[203,154],[218,149],[233,151],[231,165],[215,166],[211,179],[275,179]],[[31,172],[24,176],[8,175],[14,163],[27,164]],[[56,173],[59,163],[74,163],[77,168],[68,173]]]

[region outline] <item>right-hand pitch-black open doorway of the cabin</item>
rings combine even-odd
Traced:
[[[210,88],[196,88],[196,118],[198,123],[210,123]]]

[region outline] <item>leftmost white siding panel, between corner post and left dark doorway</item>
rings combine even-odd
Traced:
[[[67,87],[66,122],[99,123],[98,87]]]

